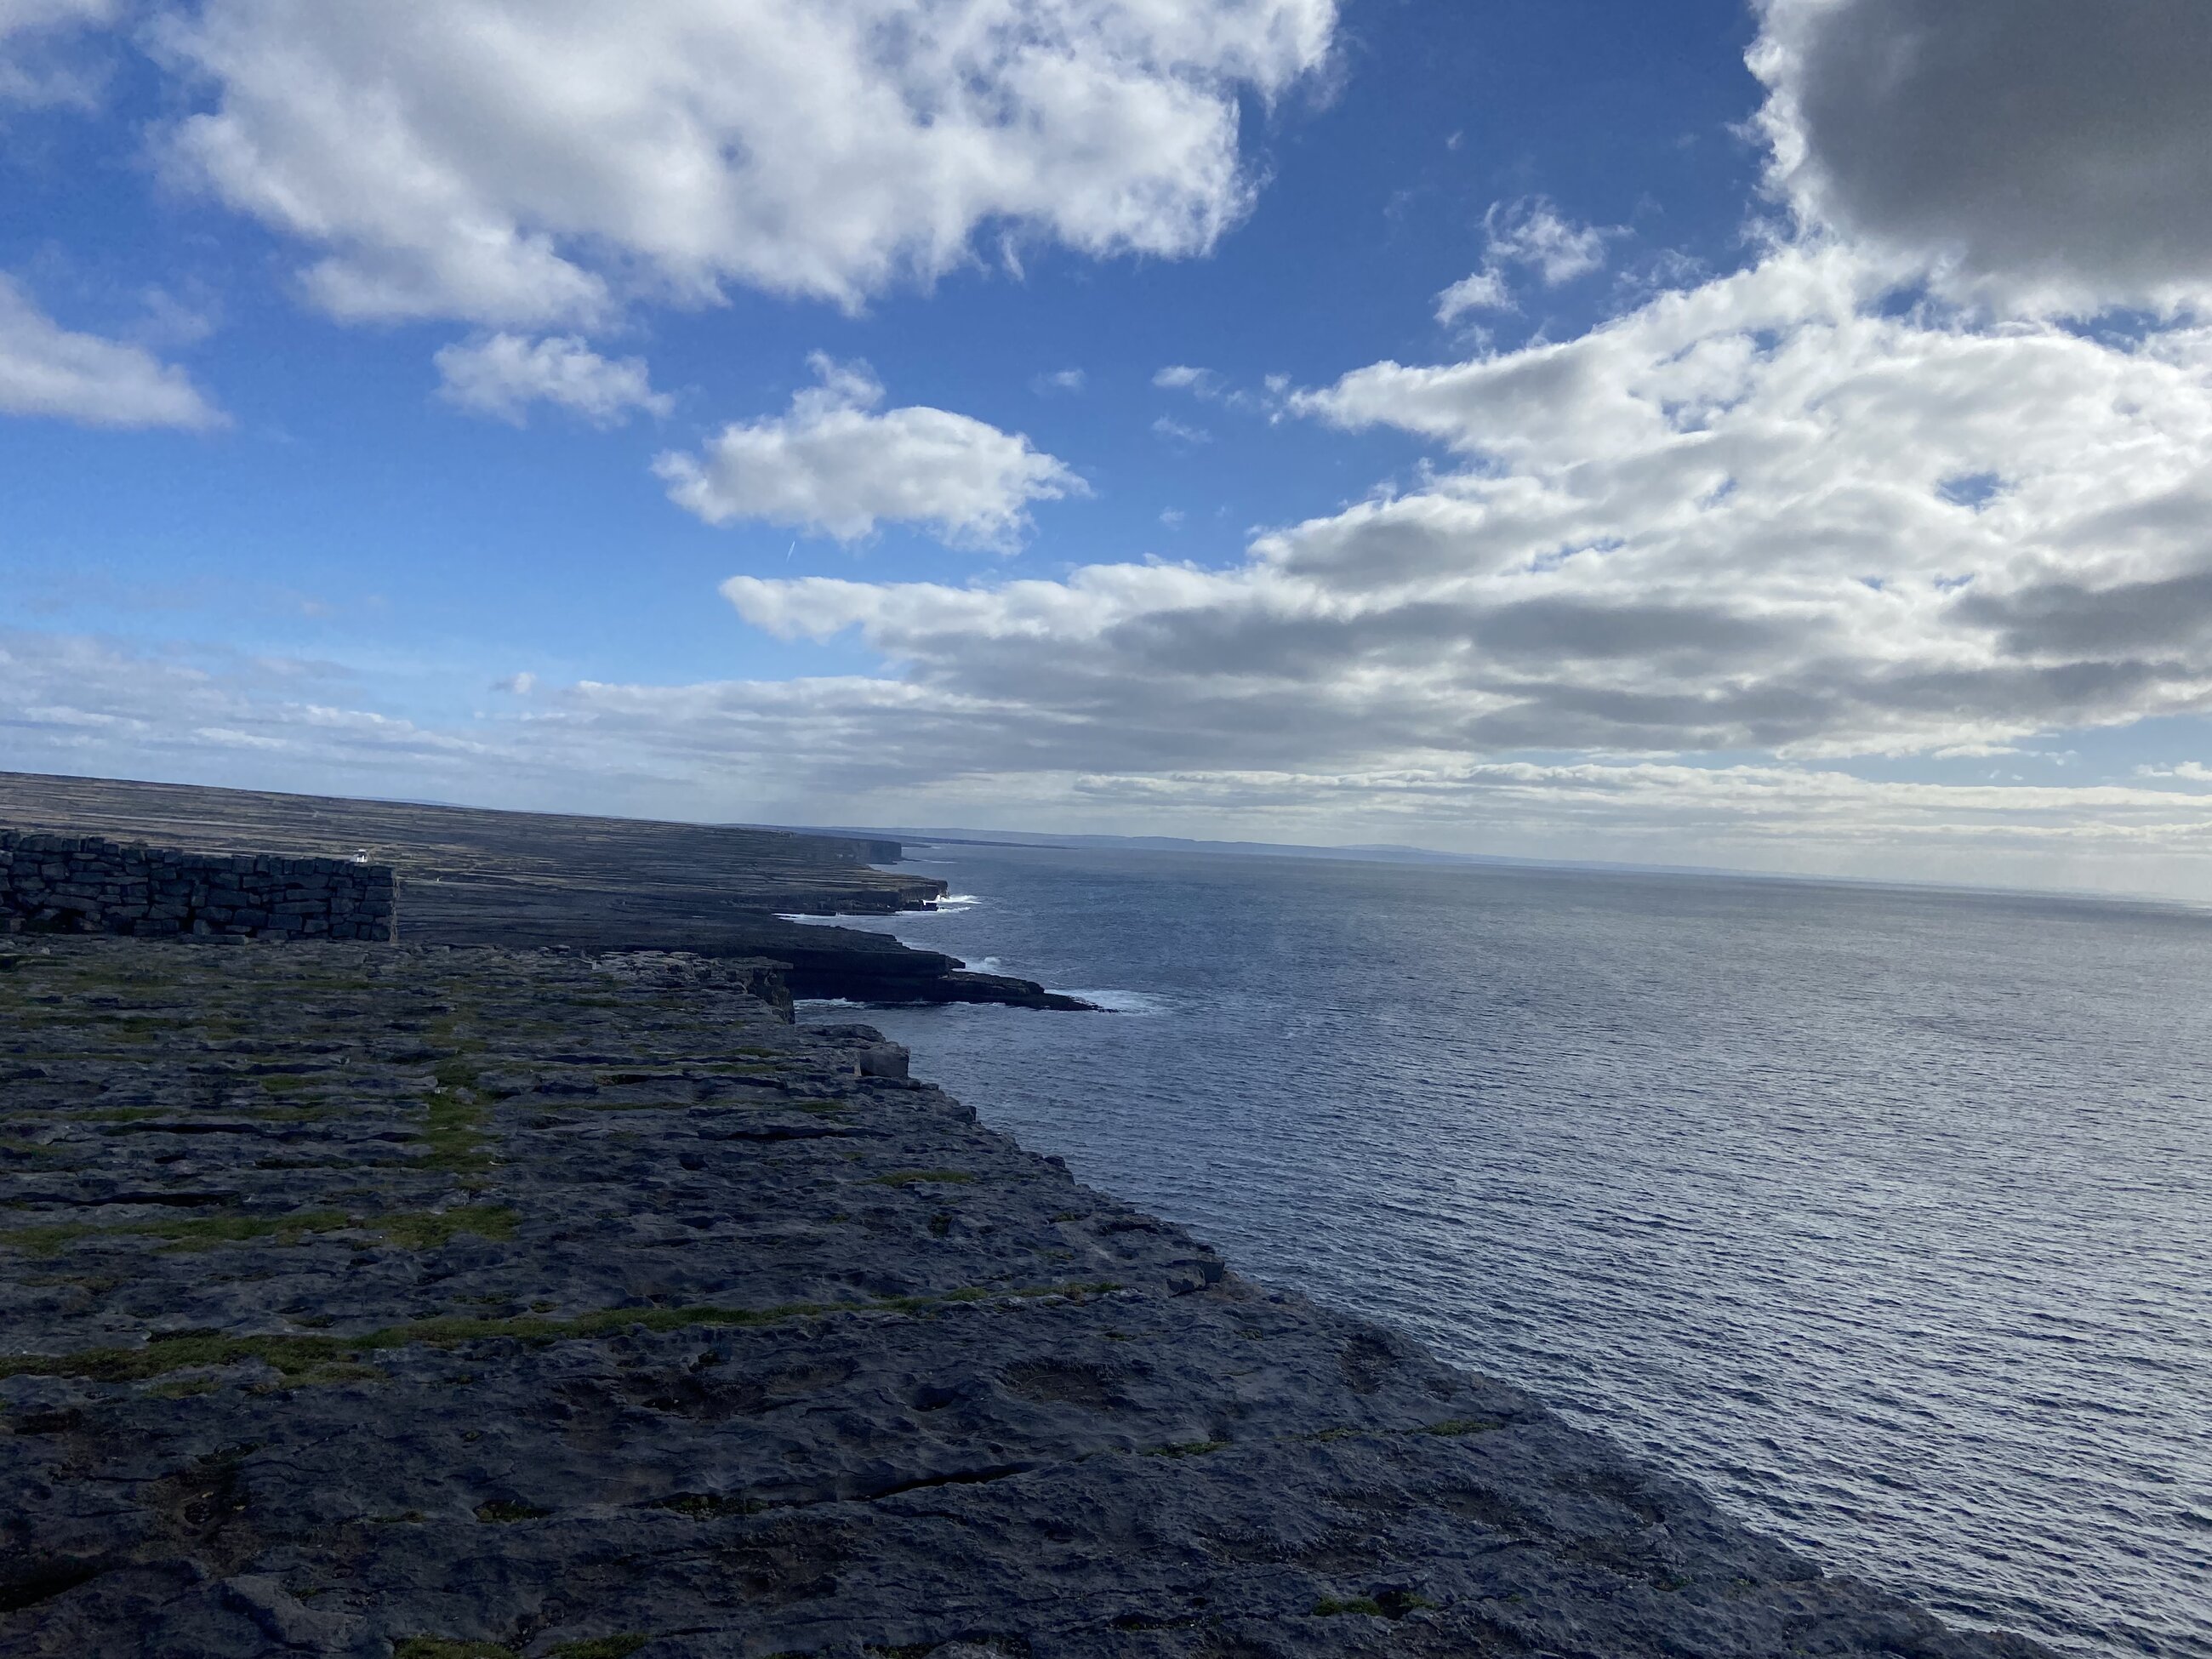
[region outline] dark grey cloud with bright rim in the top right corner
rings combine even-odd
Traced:
[[[2031,310],[2212,294],[2201,0],[1761,0],[1750,64],[1807,221]]]

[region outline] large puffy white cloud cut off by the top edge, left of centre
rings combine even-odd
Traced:
[[[170,161],[312,243],[347,319],[588,323],[635,285],[858,305],[989,232],[1203,252],[1245,210],[1239,97],[1334,0],[206,0],[161,38],[212,111]]]

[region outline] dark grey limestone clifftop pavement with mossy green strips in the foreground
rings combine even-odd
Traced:
[[[701,958],[0,956],[0,1652],[2035,1655]]]

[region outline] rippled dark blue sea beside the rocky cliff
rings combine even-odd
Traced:
[[[865,1015],[984,1121],[1834,1571],[2068,1648],[2212,1655],[2212,918],[1141,852],[914,867],[973,902],[887,931],[1128,1009]]]

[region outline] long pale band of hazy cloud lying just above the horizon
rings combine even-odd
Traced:
[[[316,684],[314,697],[299,695],[303,681]],[[11,765],[33,770],[181,768],[248,785],[484,805],[1172,827],[2212,894],[2212,792],[2170,783],[1893,783],[1834,768],[1679,761],[1298,770],[1139,757],[1086,770],[1060,765],[1066,750],[1046,748],[1053,765],[1018,752],[1048,745],[1068,714],[1040,717],[1011,690],[956,695],[869,677],[538,681],[520,708],[440,726],[354,706],[327,681],[290,664],[0,635],[0,739]],[[1009,743],[978,743],[993,723]]]

